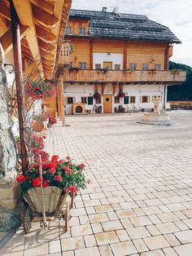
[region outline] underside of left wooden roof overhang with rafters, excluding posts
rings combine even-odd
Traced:
[[[33,78],[41,74],[46,80],[53,79],[57,52],[68,22],[72,0],[12,2],[20,20],[24,75],[34,71]],[[13,47],[10,1],[7,0],[0,1],[0,27],[0,43],[7,54]]]

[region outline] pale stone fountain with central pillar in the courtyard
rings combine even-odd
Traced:
[[[173,122],[170,121],[170,115],[166,112],[160,111],[161,96],[154,97],[154,112],[143,113],[142,121],[139,123],[155,126],[171,126]]]

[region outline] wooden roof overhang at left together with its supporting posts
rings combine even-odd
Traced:
[[[7,55],[14,56],[15,86],[20,126],[22,170],[28,168],[24,143],[24,77],[56,77],[59,104],[63,104],[63,68],[59,55],[72,0],[2,0],[0,1],[0,44]],[[61,73],[61,74],[60,74]],[[63,108],[59,108],[63,118]]]

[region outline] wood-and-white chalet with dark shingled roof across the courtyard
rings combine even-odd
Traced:
[[[145,15],[71,10],[61,56],[65,113],[114,113],[119,106],[153,108],[154,95],[166,107],[167,86],[185,81],[185,72],[169,71],[172,44],[180,40]],[[94,99],[95,93],[101,95]],[[120,97],[124,93],[125,97]]]

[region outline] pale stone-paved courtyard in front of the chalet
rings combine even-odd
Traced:
[[[70,231],[20,227],[0,255],[192,255],[192,112],[176,126],[137,124],[142,113],[67,117],[49,131],[51,154],[86,164]]]

